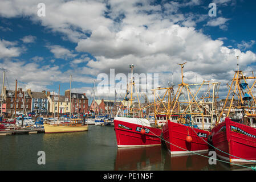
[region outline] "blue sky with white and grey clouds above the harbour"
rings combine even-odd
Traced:
[[[46,16],[37,16],[38,3]],[[210,17],[209,3],[217,5]],[[35,91],[69,88],[90,95],[100,73],[159,73],[167,85],[177,63],[187,81],[225,85],[236,68],[255,70],[255,1],[1,1],[0,70]],[[185,75],[186,76],[186,75]],[[190,77],[189,77],[190,76]]]

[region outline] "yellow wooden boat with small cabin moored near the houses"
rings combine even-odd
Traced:
[[[67,133],[87,131],[88,125],[83,125],[82,119],[71,119],[70,122],[50,124],[44,123],[44,133]]]

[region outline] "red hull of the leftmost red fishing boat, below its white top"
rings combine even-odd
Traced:
[[[117,147],[141,147],[161,145],[161,130],[153,127],[147,127],[150,131],[141,134],[136,131],[137,127],[142,125],[114,120]],[[143,127],[145,128],[145,127]],[[154,133],[154,134],[152,134]],[[157,136],[156,136],[157,135]]]

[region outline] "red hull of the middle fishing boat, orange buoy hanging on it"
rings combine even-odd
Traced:
[[[186,142],[188,133],[190,137],[192,137],[192,142]],[[189,151],[207,152],[209,150],[209,146],[206,143],[207,138],[210,135],[209,131],[194,128],[192,129],[191,127],[170,122],[168,120],[168,123],[162,127],[162,134],[162,137],[164,137],[164,139],[167,141],[165,143],[170,154],[190,154],[191,152]],[[201,138],[198,135],[200,135]]]

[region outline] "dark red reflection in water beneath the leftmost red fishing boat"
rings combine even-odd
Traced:
[[[162,170],[161,146],[117,148],[115,170]]]

